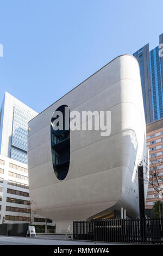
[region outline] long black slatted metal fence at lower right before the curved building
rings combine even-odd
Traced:
[[[163,243],[163,219],[74,221],[73,239],[125,243]]]

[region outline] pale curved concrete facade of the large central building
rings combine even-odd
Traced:
[[[60,181],[52,166],[50,124],[61,105],[70,112],[111,111],[111,135],[70,131],[70,167]],[[57,233],[64,233],[73,220],[121,207],[130,217],[139,215],[136,169],[147,149],[140,70],[133,56],[112,60],[28,126],[30,199],[37,204],[37,214],[56,222]]]

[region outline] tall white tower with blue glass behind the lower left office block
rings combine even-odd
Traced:
[[[5,92],[0,108],[1,155],[27,164],[27,126],[36,115],[32,108]]]

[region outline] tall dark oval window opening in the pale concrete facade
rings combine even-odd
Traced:
[[[51,148],[54,173],[59,180],[67,176],[70,165],[70,109],[58,107],[51,119]]]

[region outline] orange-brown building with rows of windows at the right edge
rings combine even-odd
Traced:
[[[163,178],[163,119],[155,121],[147,125],[147,146],[149,149],[149,169],[157,171]],[[158,175],[157,175],[158,176]],[[157,181],[154,180],[156,183]],[[151,183],[151,182],[150,182]],[[163,186],[163,182],[159,180],[159,185]],[[156,192],[152,184],[148,185],[146,197],[146,214],[151,215],[154,202],[162,200]]]

